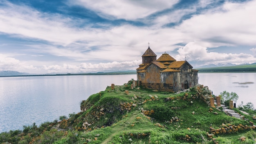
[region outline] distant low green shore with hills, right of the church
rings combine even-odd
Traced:
[[[250,65],[235,65],[196,69],[199,70],[199,72],[256,72],[256,63]]]

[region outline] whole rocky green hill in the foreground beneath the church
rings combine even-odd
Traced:
[[[252,116],[245,116],[248,120],[227,116],[209,107],[209,97],[211,91],[202,85],[177,94],[131,89],[130,83],[107,87],[83,100],[80,113],[1,133],[0,143],[255,143],[255,127],[249,125],[249,120],[255,122]]]

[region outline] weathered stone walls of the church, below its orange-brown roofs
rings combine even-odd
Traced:
[[[181,72],[160,71],[160,68],[151,64],[146,72],[137,73],[138,84],[148,89],[177,92],[193,87],[198,83],[198,73],[192,71],[187,63],[182,66]]]

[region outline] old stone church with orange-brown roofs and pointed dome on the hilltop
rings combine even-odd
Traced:
[[[142,63],[137,68],[137,84],[148,89],[167,92],[177,92],[188,89],[198,83],[198,70],[188,61],[176,61],[166,52],[161,57],[148,49],[142,57]]]

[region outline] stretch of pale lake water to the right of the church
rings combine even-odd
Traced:
[[[256,73],[199,73],[198,76],[198,83],[207,85],[214,95],[235,92],[239,96],[237,106],[243,101],[244,105],[252,102],[256,108]]]

